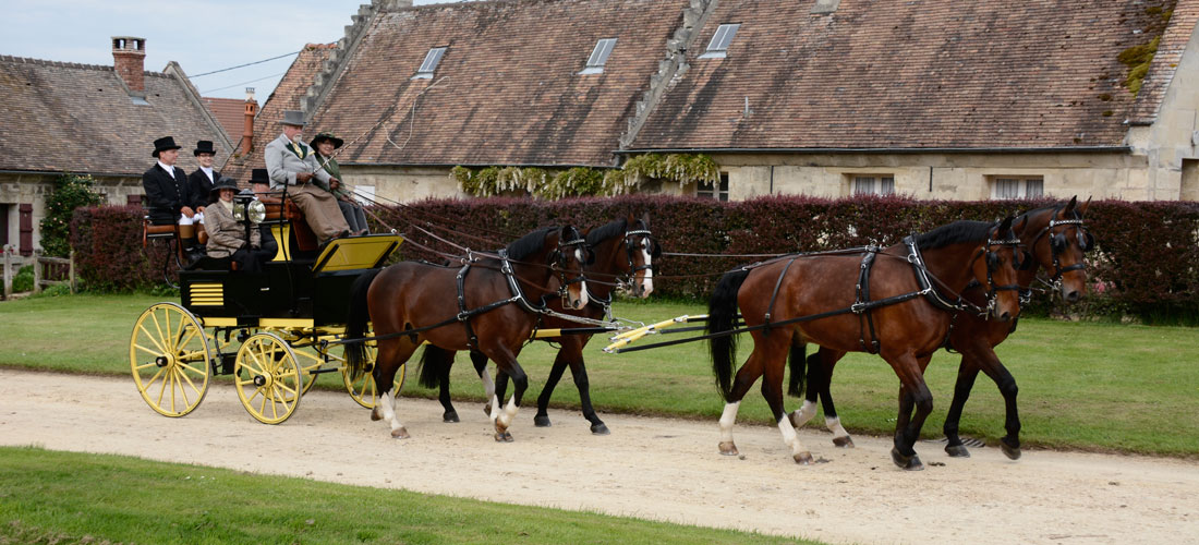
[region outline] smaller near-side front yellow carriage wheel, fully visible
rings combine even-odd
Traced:
[[[278,424],[300,405],[303,375],[291,347],[279,335],[255,333],[237,350],[234,384],[252,417]]]

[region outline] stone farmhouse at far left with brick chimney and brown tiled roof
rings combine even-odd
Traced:
[[[62,174],[90,175],[109,204],[141,202],[153,140],[174,135],[177,165],[194,170],[198,140],[217,162],[233,149],[177,63],[144,69],[145,40],[113,38],[113,66],[0,55],[0,244],[40,246],[46,195]]]

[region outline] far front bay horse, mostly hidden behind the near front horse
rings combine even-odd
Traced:
[[[1017,272],[1017,284],[1020,286],[1022,297],[1031,295],[1032,283],[1037,279],[1041,268],[1053,273],[1049,285],[1061,296],[1062,301],[1074,303],[1086,293],[1083,255],[1093,249],[1095,246],[1091,234],[1083,225],[1083,214],[1089,204],[1090,201],[1078,204],[1078,198],[1074,196],[1065,205],[1037,208],[1017,217],[1017,223],[1023,224],[1023,229],[1018,229],[1016,235],[1020,238],[1026,255],[1030,258],[1023,260],[1022,265],[1024,266]],[[969,286],[963,296],[975,304],[982,304],[986,293],[982,286]],[[1014,322],[987,320],[970,311],[958,313],[950,334],[950,346],[962,352],[962,363],[958,365],[953,401],[950,404],[944,426],[945,436],[948,440],[945,452],[950,456],[970,456],[970,450],[958,436],[958,425],[962,419],[962,410],[974,388],[975,379],[977,379],[978,371],[982,371],[995,382],[1004,396],[1006,408],[1004,429],[1007,435],[1000,438],[1000,449],[1008,459],[1020,458],[1020,418],[1016,404],[1018,388],[1016,379],[999,361],[994,350],[1014,331]],[[805,367],[807,367],[806,399],[803,406],[791,414],[791,422],[796,428],[800,428],[812,419],[817,412],[815,402],[819,396],[825,413],[825,426],[833,434],[833,444],[852,447],[854,441],[842,426],[830,393],[833,367],[844,356],[843,351],[821,347],[806,362],[802,353],[791,359],[789,393],[793,395],[800,394],[799,388],[803,382]]]

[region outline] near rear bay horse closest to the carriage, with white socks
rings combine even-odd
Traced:
[[[534,305],[555,293],[556,278],[565,305],[585,307],[585,260],[582,234],[566,225],[530,232],[496,255],[475,254],[460,268],[404,261],[360,277],[351,286],[345,334],[362,338],[369,319],[376,335],[372,373],[380,402],[372,419],[387,420],[392,437],[409,436],[387,392],[399,365],[428,341],[442,350],[478,350],[512,377],[516,389],[504,410],[498,398],[490,400],[495,440],[512,441],[507,430],[529,387],[517,356],[537,323]],[[348,344],[345,356],[351,376],[360,376],[367,365],[364,344]]]

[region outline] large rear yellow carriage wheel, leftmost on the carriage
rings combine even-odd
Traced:
[[[209,392],[209,357],[204,327],[179,304],[155,304],[133,325],[133,381],[159,414],[181,417],[200,405]]]

